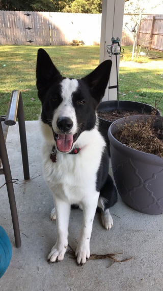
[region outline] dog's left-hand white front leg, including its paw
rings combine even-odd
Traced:
[[[68,245],[67,238],[70,204],[59,198],[55,198],[55,208],[58,237],[55,246],[51,249],[47,258],[51,263],[63,260]]]

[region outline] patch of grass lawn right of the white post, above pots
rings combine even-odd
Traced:
[[[124,49],[125,53],[119,70],[120,100],[137,101],[155,106],[155,101],[158,102],[163,96],[163,53],[150,51],[150,55],[160,58],[140,57],[139,63],[131,61],[131,47],[124,47]],[[146,50],[143,51],[146,52]],[[158,108],[163,111],[163,98]]]

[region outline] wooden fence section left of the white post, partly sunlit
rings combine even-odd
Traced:
[[[99,44],[101,14],[0,11],[0,44]]]

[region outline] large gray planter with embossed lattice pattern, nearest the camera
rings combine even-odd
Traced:
[[[121,118],[108,129],[111,160],[117,190],[123,201],[134,210],[146,214],[163,213],[163,159],[157,155],[129,148],[114,138],[117,126],[138,118]],[[155,117],[154,126],[162,129],[163,117]]]

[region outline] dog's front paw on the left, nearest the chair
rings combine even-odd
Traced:
[[[47,261],[50,263],[62,261],[64,259],[66,250],[67,250],[67,245],[63,245],[63,247],[61,246],[58,247],[58,245],[55,244],[54,247],[51,249],[50,254],[48,255]]]

